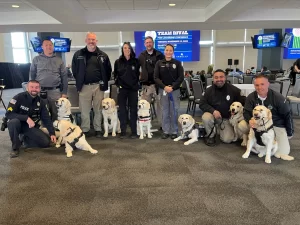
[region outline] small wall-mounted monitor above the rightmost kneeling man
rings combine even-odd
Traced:
[[[252,39],[253,48],[275,48],[280,46],[279,33],[258,34]]]

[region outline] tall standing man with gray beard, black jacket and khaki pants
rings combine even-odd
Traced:
[[[87,33],[86,47],[78,50],[73,56],[72,72],[79,92],[81,129],[86,136],[90,136],[90,112],[93,108],[94,130],[96,131],[96,137],[101,138],[101,103],[104,92],[108,90],[111,64],[108,55],[97,47],[97,42],[95,33]]]

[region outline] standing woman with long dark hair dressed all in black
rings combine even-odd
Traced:
[[[135,58],[135,53],[130,45],[130,42],[124,42],[121,50],[122,55],[115,61],[114,66],[115,81],[119,88],[118,105],[120,110],[119,119],[121,124],[120,138],[124,138],[126,136],[128,118],[127,103],[130,110],[131,138],[136,138],[140,64],[138,59]]]

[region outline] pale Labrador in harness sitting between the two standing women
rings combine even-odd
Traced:
[[[150,103],[143,99],[138,102],[137,134],[140,139],[152,138]]]

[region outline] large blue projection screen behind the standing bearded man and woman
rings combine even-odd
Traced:
[[[174,46],[174,58],[182,62],[200,61],[200,30],[188,31],[135,31],[135,52],[138,56],[146,48],[145,37],[151,36],[154,48],[164,53],[165,45]]]

